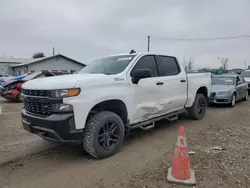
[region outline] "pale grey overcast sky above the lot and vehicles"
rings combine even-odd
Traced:
[[[0,56],[62,53],[87,63],[113,53],[147,50],[147,36],[250,34],[249,0],[0,0]],[[194,58],[196,67],[250,65],[250,38],[151,41],[151,51]]]

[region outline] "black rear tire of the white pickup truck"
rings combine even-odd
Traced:
[[[200,102],[205,104],[202,113],[199,112],[198,106]],[[188,115],[191,119],[200,120],[206,114],[207,100],[203,94],[196,94],[194,103],[191,108],[188,109]]]

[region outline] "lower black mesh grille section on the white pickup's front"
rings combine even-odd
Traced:
[[[24,108],[27,112],[40,116],[49,116],[52,114],[52,104],[30,102],[24,99]]]

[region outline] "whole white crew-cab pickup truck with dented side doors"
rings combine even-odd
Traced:
[[[95,158],[116,153],[130,130],[153,128],[188,110],[202,119],[210,73],[186,74],[175,57],[128,53],[95,60],[78,74],[22,86],[24,129],[59,142],[81,141]]]

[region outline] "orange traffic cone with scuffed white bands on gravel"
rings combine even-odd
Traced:
[[[172,168],[168,169],[167,181],[186,185],[195,185],[195,173],[190,169],[187,141],[184,126],[180,126],[179,135],[175,147]]]

